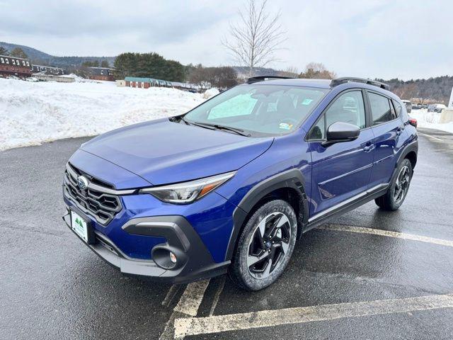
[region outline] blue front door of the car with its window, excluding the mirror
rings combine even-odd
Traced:
[[[367,128],[360,89],[340,94],[309,132],[312,162],[311,208],[314,216],[367,190],[372,172],[372,129]],[[323,146],[328,126],[336,122],[357,125],[357,140]]]

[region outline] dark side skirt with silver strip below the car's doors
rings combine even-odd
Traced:
[[[313,217],[309,218],[309,221],[304,228],[304,232],[308,232],[310,229],[326,223],[332,217],[343,215],[345,212],[354,210],[355,208],[360,207],[360,205],[364,205],[370,200],[374,200],[374,198],[384,195],[388,188],[389,183],[379,184],[379,186],[374,186],[363,193],[352,196],[348,200],[344,200],[331,208],[317,213]]]

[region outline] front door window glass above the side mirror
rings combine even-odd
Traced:
[[[336,122],[357,125],[360,129],[365,128],[365,105],[362,91],[349,91],[339,96],[319,119],[318,123],[311,128],[309,139],[325,139],[326,130]]]

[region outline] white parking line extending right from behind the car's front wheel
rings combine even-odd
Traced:
[[[415,234],[406,234],[405,232],[389,232],[388,230],[355,227],[352,225],[321,225],[317,227],[317,229],[337,230],[340,232],[359,232],[362,234],[396,237],[398,239],[411,239],[412,241],[440,244],[441,246],[453,246],[453,241],[449,241],[447,239],[435,239]]]

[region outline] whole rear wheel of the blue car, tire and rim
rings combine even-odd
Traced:
[[[389,190],[384,195],[374,199],[374,202],[384,210],[397,210],[404,202],[409,191],[412,179],[412,164],[405,158],[396,169],[396,176],[392,180]],[[401,183],[403,183],[401,185]]]

